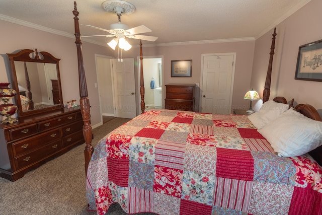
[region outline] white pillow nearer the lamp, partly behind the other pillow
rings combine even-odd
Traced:
[[[253,125],[258,129],[264,127],[273,119],[276,119],[281,113],[287,111],[288,104],[278,103],[273,100],[267,101],[263,104],[258,112],[248,116]]]

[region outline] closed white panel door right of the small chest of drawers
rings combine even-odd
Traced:
[[[202,56],[201,112],[230,114],[235,54]]]

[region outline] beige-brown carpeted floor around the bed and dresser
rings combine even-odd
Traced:
[[[113,118],[93,129],[93,146],[107,133],[128,120]],[[73,148],[64,155],[28,172],[15,182],[0,178],[0,214],[96,214],[96,212],[87,211],[84,147],[83,144]],[[122,211],[119,204],[113,204],[107,214],[127,213]]]

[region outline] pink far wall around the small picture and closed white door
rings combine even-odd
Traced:
[[[139,42],[138,42],[139,43]],[[142,41],[144,43],[144,41]],[[232,109],[249,108],[249,101],[243,99],[245,93],[252,88],[251,74],[254,56],[255,40],[242,42],[209,43],[197,45],[144,47],[143,56],[164,56],[163,84],[196,84],[200,83],[201,54],[236,52],[235,77],[232,95]],[[270,47],[266,50],[269,51]],[[123,52],[123,57],[137,56],[139,48]],[[136,59],[136,57],[135,57]],[[171,60],[192,59],[192,77],[171,77]],[[137,67],[135,67],[137,69]],[[137,71],[136,71],[137,73]],[[165,97],[164,91],[164,97]],[[199,88],[196,104],[199,104]]]

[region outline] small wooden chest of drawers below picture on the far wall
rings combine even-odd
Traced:
[[[195,85],[169,84],[166,85],[165,109],[195,110]]]

